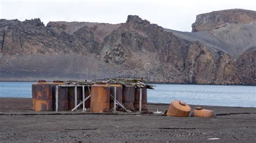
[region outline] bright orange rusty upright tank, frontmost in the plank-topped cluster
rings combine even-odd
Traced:
[[[110,86],[106,84],[91,85],[90,112],[110,111]]]

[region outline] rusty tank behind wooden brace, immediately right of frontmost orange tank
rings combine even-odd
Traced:
[[[119,84],[110,84],[110,94],[114,97],[114,87],[116,87],[116,99],[122,104],[123,103],[123,87]],[[114,99],[110,97],[110,109],[114,106]]]

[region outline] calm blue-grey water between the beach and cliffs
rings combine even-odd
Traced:
[[[32,97],[33,82],[0,82],[0,97]],[[170,103],[174,99],[196,105],[256,107],[256,87],[240,85],[154,84],[147,101]]]

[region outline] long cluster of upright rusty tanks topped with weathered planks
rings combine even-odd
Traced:
[[[147,110],[148,88],[153,89],[153,86],[138,79],[100,82],[38,81],[32,84],[32,109],[33,111],[111,112],[116,107],[114,111],[144,111]]]

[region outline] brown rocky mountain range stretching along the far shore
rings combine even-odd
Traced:
[[[248,16],[241,21],[242,25],[251,23],[255,14]],[[207,22],[201,26],[200,19],[203,16],[197,19],[198,24],[193,24],[193,29],[212,34],[210,28],[203,29]],[[0,78],[65,80],[125,76],[162,83],[256,84],[253,46],[241,50],[234,58],[217,42],[211,43],[215,46],[211,47],[200,38],[187,37],[194,35],[164,29],[138,16],[128,16],[122,24],[50,22],[46,26],[40,19],[1,19]],[[251,39],[250,44],[254,45],[254,41]]]

